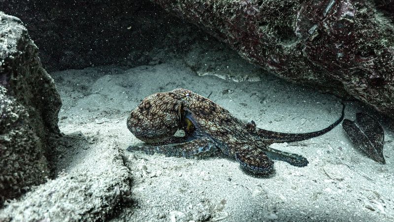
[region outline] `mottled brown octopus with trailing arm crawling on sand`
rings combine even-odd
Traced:
[[[247,173],[269,175],[274,172],[273,160],[298,167],[308,164],[301,155],[269,145],[320,136],[343,120],[344,108],[343,105],[341,117],[322,130],[283,133],[258,128],[253,121],[242,122],[209,98],[187,89],[175,89],[149,95],[131,111],[127,126],[145,144],[127,150],[188,159],[219,155],[235,159]],[[184,135],[175,136],[178,130],[183,130]]]

